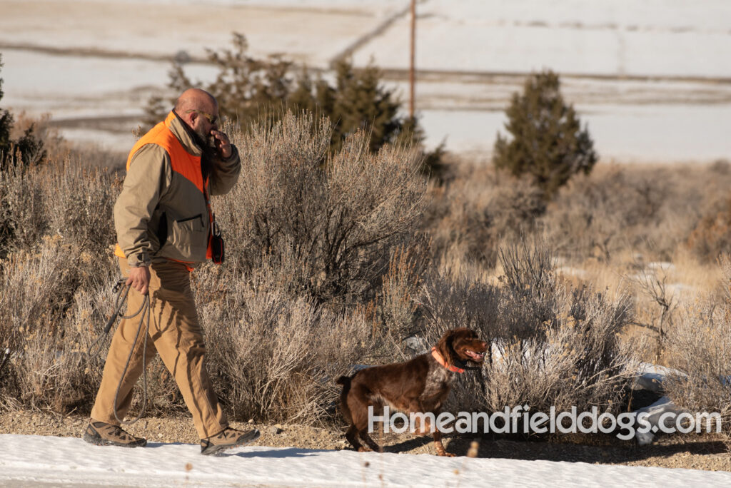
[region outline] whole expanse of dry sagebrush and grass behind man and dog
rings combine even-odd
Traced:
[[[697,386],[731,365],[716,346],[728,342],[721,268],[691,238],[723,208],[724,169],[599,166],[546,205],[491,167],[452,164],[444,186],[427,183],[413,150],[369,153],[365,133],[327,156],[327,123],[308,115],[231,136],[242,176],[213,201],[227,262],[193,281],[234,419],[328,422],[333,378],[408,359],[453,327],[492,341],[454,408],[615,409],[637,359],[658,352],[695,378],[675,383],[679,403],[727,408],[727,384]],[[99,384],[102,359],[80,353],[113,302],[121,177],[96,168],[110,156],[78,157],[0,174],[6,407],[88,411]],[[701,294],[708,305],[693,305]],[[181,410],[162,364],[149,373],[153,410]]]

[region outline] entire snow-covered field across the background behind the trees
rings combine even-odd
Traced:
[[[0,0],[4,107],[51,113],[70,140],[132,145],[170,59],[232,31],[255,56],[388,69],[406,99],[408,0]],[[140,15],[143,9],[144,15]],[[731,2],[421,0],[417,112],[428,145],[488,153],[521,75],[563,76],[605,161],[731,158]],[[192,62],[193,79],[211,80]]]

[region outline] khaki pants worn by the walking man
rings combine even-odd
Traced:
[[[126,259],[119,258],[119,267],[122,275],[129,276]],[[228,422],[205,370],[205,346],[190,289],[190,273],[183,264],[170,261],[153,264],[150,275],[150,329],[145,364],[149,364],[155,351],[160,354],[193,414],[193,422],[200,438],[211,437],[224,430]],[[137,290],[130,289],[124,315],[135,313],[143,299],[143,295]],[[119,424],[114,417],[114,396],[139,324],[140,316],[121,320],[107,354],[102,384],[96,394],[91,419]],[[140,336],[143,332],[140,332]],[[137,378],[142,374],[142,354],[143,341],[140,337],[137,338],[135,352],[119,389],[117,415],[120,419],[124,419],[129,411],[132,386],[135,386]]]

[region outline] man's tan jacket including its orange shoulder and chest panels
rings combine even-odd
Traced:
[[[215,159],[204,181],[202,148],[189,130],[170,112],[129,153],[124,186],[114,205],[114,226],[115,253],[132,267],[167,259],[192,267],[206,259],[211,233],[208,195],[228,193],[241,164],[232,145],[231,157]]]

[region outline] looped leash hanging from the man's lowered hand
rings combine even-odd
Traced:
[[[150,331],[150,295],[145,295],[145,300],[143,300],[142,305],[140,305],[140,308],[135,312],[132,313],[132,315],[122,315],[121,309],[124,307],[124,304],[127,301],[127,295],[129,294],[129,289],[131,288],[128,284],[126,284],[127,278],[121,278],[117,283],[114,285],[112,291],[117,294],[117,297],[114,302],[114,313],[110,317],[110,319],[107,321],[107,324],[104,327],[104,330],[99,335],[99,338],[96,338],[94,343],[91,343],[91,346],[89,346],[88,351],[86,351],[86,354],[88,356],[88,359],[94,359],[95,357],[99,356],[99,352],[102,350],[102,341],[107,337],[109,334],[109,331],[112,329],[115,321],[117,319],[134,319],[136,316],[140,316],[140,325],[137,326],[137,334],[135,334],[135,340],[132,341],[132,348],[129,349],[129,356],[127,356],[127,362],[124,365],[124,370],[122,370],[121,378],[119,378],[119,384],[117,385],[117,391],[114,394],[114,418],[117,419],[117,422],[123,425],[132,425],[135,424],[138,420],[142,419],[143,414],[145,413],[145,407],[147,406],[147,365],[145,364],[147,360],[147,335]],[[145,327],[145,340],[143,343],[143,352],[142,352],[142,384],[143,384],[143,403],[142,403],[142,409],[140,410],[139,415],[137,417],[130,421],[130,422],[122,422],[117,414],[117,398],[119,397],[119,389],[122,387],[122,381],[124,381],[124,375],[127,373],[127,368],[129,368],[129,363],[132,361],[132,354],[135,352],[135,346],[137,345],[137,338],[140,337],[140,332],[142,332],[142,326],[145,321],[145,314],[147,314],[147,326]],[[96,350],[94,349],[96,348]]]

